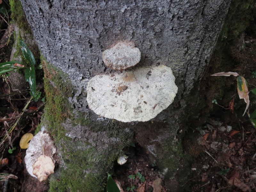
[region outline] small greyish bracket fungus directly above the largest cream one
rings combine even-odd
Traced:
[[[105,65],[115,70],[125,70],[140,62],[140,50],[132,42],[117,43],[102,53]]]

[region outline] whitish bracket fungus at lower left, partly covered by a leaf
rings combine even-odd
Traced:
[[[36,163],[38,160],[37,158],[45,154],[45,156],[50,157],[53,163],[55,163],[55,160],[52,157],[55,153],[56,147],[54,146],[54,142],[50,135],[41,131],[38,132],[33,139],[30,140],[24,159],[28,173],[37,178],[36,175],[33,174],[33,164]]]

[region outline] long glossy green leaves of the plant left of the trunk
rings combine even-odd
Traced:
[[[27,44],[25,44],[25,42],[22,41],[21,39],[20,39],[20,46],[21,46],[21,52],[23,53],[25,59],[28,61],[29,66],[24,67],[24,65],[22,65],[21,62],[19,61],[9,61],[5,63],[0,63],[0,75],[4,73],[15,72],[20,68],[25,68],[25,80],[29,84],[30,95],[35,99],[35,101],[38,101],[38,99],[41,96],[41,92],[40,91],[36,92],[36,70],[35,70],[36,60],[33,53],[28,48]],[[39,65],[39,68],[40,68],[40,65]],[[9,74],[7,74],[6,76],[9,76]]]

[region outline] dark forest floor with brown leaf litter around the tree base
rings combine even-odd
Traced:
[[[5,28],[7,27],[8,23]],[[12,50],[9,38],[12,32],[4,35],[4,31],[1,33],[0,63],[8,61]],[[244,38],[245,48],[241,53],[244,58],[248,58],[250,66],[256,68],[255,38]],[[250,85],[256,87],[256,72],[251,76]],[[38,102],[29,102],[31,96],[28,84],[20,91],[17,82],[10,79],[4,75],[0,77],[0,191],[48,191],[47,181],[40,183],[26,171],[26,149],[20,149],[19,145],[22,135],[34,134],[40,123],[45,102],[41,100],[44,98],[44,91],[41,90],[42,97]],[[39,83],[43,83],[40,81],[42,78]],[[186,169],[189,171],[184,177],[185,173],[177,170],[177,175],[183,174],[182,181],[177,177],[177,191],[256,191],[256,128],[247,114],[237,115],[244,109],[234,111],[236,102],[232,98],[230,100],[225,104],[229,109],[218,107],[216,114],[208,116],[202,126],[198,127],[193,123],[188,125],[182,141],[184,156],[180,162],[181,166],[182,162],[189,162],[186,163]],[[115,173],[112,175],[124,192],[172,191],[166,189],[158,165],[150,161],[147,150],[135,144],[129,152],[125,164],[115,163]],[[9,179],[1,180],[2,173],[9,174]]]

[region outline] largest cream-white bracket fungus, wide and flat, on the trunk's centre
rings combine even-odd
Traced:
[[[97,115],[122,122],[149,121],[174,100],[178,87],[166,66],[96,75],[87,86],[87,102]]]

